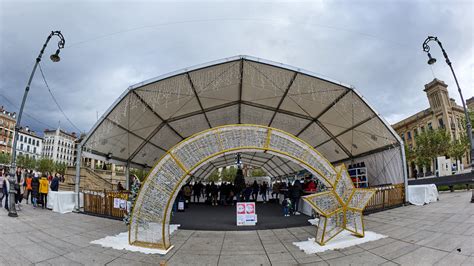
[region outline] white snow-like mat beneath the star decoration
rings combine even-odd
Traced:
[[[342,249],[355,245],[360,245],[369,241],[375,241],[387,236],[380,235],[374,232],[365,231],[364,237],[357,237],[351,232],[344,230],[328,241],[324,246],[320,246],[314,241],[314,238],[309,238],[307,241],[293,242],[293,245],[304,251],[306,254],[314,254],[324,252],[326,250]]]

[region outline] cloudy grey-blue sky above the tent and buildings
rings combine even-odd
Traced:
[[[474,1],[5,1],[0,0],[0,104],[18,112],[34,60],[61,30],[61,61],[42,61],[64,112],[88,132],[130,85],[234,55],[289,64],[356,87],[389,122],[428,107],[424,84],[444,80],[460,98],[435,43],[443,42],[463,89],[474,95]],[[36,72],[22,125],[77,131]]]

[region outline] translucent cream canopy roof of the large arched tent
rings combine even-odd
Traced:
[[[94,156],[151,167],[181,140],[226,124],[278,128],[305,140],[330,162],[399,147],[390,125],[351,86],[299,68],[237,56],[172,72],[129,87],[82,146]],[[228,156],[227,156],[228,157]],[[229,158],[203,167],[202,175]],[[273,175],[301,167],[270,155],[244,162]]]

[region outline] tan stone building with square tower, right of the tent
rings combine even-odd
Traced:
[[[424,91],[428,97],[430,107],[422,110],[402,121],[392,125],[393,129],[400,135],[402,140],[409,147],[416,147],[415,136],[427,129],[445,128],[449,132],[451,139],[458,139],[465,132],[464,109],[456,104],[453,98],[449,97],[448,85],[444,81],[434,79],[425,85]],[[473,98],[469,99],[471,101]],[[468,100],[468,101],[469,101]],[[469,152],[462,159],[464,167],[469,166]],[[418,175],[432,175],[436,168],[431,164],[429,169],[408,163],[408,176],[413,176],[413,170],[418,171]]]

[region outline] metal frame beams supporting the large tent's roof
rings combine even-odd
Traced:
[[[259,63],[259,64],[263,64],[263,65],[267,65],[267,66],[271,66],[271,67],[276,67],[276,68],[280,68],[280,69],[284,69],[284,70],[287,70],[287,71],[293,71],[295,72],[290,80],[290,83],[288,84],[288,86],[286,87],[285,91],[284,91],[284,97],[282,97],[278,103],[278,106],[275,108],[275,107],[271,107],[271,106],[266,106],[266,105],[261,105],[261,104],[258,104],[258,103],[253,103],[253,102],[249,102],[249,101],[244,101],[242,100],[242,90],[243,90],[243,79],[244,79],[244,61],[248,61],[248,62],[253,62],[253,63]],[[197,91],[196,91],[196,88],[193,84],[193,81],[191,79],[191,76],[190,76],[190,73],[193,72],[193,71],[197,71],[197,70],[203,70],[203,69],[206,69],[206,68],[210,68],[210,67],[215,67],[215,66],[218,66],[218,65],[222,65],[222,64],[226,64],[226,63],[230,63],[230,62],[236,62],[239,64],[239,71],[240,71],[240,81],[239,81],[239,99],[237,101],[232,101],[232,102],[229,102],[229,103],[225,103],[225,104],[221,104],[221,105],[218,105],[218,106],[213,106],[213,107],[210,107],[210,108],[204,108],[202,103],[201,103],[201,100],[199,98],[199,96],[197,95]],[[141,88],[143,86],[146,86],[146,85],[149,85],[149,84],[152,84],[152,83],[155,83],[155,82],[158,82],[158,81],[163,81],[163,80],[166,80],[166,79],[170,79],[170,78],[173,78],[173,77],[176,77],[176,76],[179,76],[179,75],[186,75],[188,77],[188,80],[189,80],[189,83],[191,85],[191,88],[196,96],[196,99],[199,103],[199,106],[200,106],[200,109],[201,110],[198,110],[196,112],[192,112],[192,113],[188,113],[188,114],[184,114],[184,115],[181,115],[179,117],[174,117],[174,118],[170,118],[170,119],[163,119],[158,113],[156,113],[153,108],[148,104],[146,103],[146,101],[140,97],[138,95],[138,93],[135,91],[136,89],[138,88]],[[300,113],[295,113],[295,112],[290,112],[290,111],[287,111],[287,110],[282,110],[280,109],[281,105],[283,104],[284,100],[287,98],[286,96],[288,95],[288,92],[290,91],[291,89],[291,86],[293,85],[295,79],[298,77],[298,76],[307,76],[307,77],[311,77],[311,78],[316,78],[316,79],[319,79],[321,81],[324,81],[324,82],[328,82],[330,84],[334,84],[334,85],[338,85],[338,86],[342,86],[346,89],[346,91],[342,92],[341,95],[339,95],[331,104],[329,104],[324,110],[322,110],[316,117],[311,117],[307,114],[300,114]],[[337,137],[341,136],[343,133],[339,133],[339,134],[332,134],[322,123],[321,121],[319,121],[319,118],[324,115],[327,111],[329,111],[332,107],[334,107],[334,105],[336,105],[342,98],[344,98],[349,92],[352,92],[354,93],[357,97],[360,98],[360,100],[366,105],[366,107],[371,110],[374,115],[372,115],[370,117],[370,119],[373,119],[375,117],[377,117],[378,119],[380,119],[380,121],[382,122],[382,124],[386,127],[386,129],[391,133],[391,135],[395,138],[396,142],[398,143],[398,145],[396,146],[399,146],[401,147],[401,159],[402,159],[402,164],[403,164],[403,175],[404,175],[404,179],[405,179],[405,183],[407,183],[407,173],[406,173],[406,159],[405,159],[405,154],[404,154],[404,149],[403,149],[403,141],[400,139],[400,137],[398,136],[398,134],[393,130],[393,128],[390,126],[390,124],[378,113],[375,111],[375,109],[367,102],[367,100],[353,87],[353,86],[350,86],[350,85],[347,85],[347,84],[344,84],[344,83],[341,83],[341,82],[338,82],[336,80],[333,80],[333,79],[330,79],[328,77],[323,77],[321,75],[318,75],[318,74],[315,74],[313,72],[310,72],[310,71],[307,71],[307,70],[303,70],[303,69],[300,69],[300,68],[296,68],[296,67],[293,67],[293,66],[289,66],[289,65],[286,65],[286,64],[282,64],[282,63],[277,63],[277,62],[273,62],[273,61],[269,61],[269,60],[265,60],[265,59],[261,59],[261,58],[257,58],[257,57],[252,57],[252,56],[246,56],[246,55],[239,55],[239,56],[234,56],[234,57],[229,57],[229,58],[224,58],[224,59],[220,59],[220,60],[216,60],[216,61],[212,61],[212,62],[209,62],[209,63],[205,63],[205,64],[200,64],[200,65],[196,65],[196,66],[193,66],[193,67],[188,67],[188,68],[185,68],[185,69],[182,69],[182,70],[178,70],[178,71],[174,71],[174,72],[171,72],[171,73],[168,73],[168,74],[165,74],[165,75],[161,75],[161,76],[158,76],[158,77],[155,77],[155,78],[152,78],[152,79],[149,79],[149,80],[145,80],[143,82],[140,82],[140,83],[137,83],[135,85],[132,85],[130,87],[128,87],[121,95],[120,97],[118,97],[114,103],[107,109],[107,111],[101,116],[101,118],[94,124],[94,126],[92,127],[92,129],[89,131],[89,133],[87,134],[87,136],[82,140],[82,142],[80,143],[80,145],[78,145],[78,156],[80,157],[81,155],[81,152],[82,152],[82,147],[86,147],[86,144],[87,142],[89,141],[90,137],[94,134],[94,132],[98,129],[98,127],[105,121],[105,120],[108,120],[107,117],[113,112],[113,110],[119,105],[120,102],[122,102],[123,99],[125,99],[125,97],[128,96],[128,94],[130,93],[133,93],[135,97],[138,97],[138,99],[146,106],[146,108],[148,110],[150,110],[153,114],[155,114],[157,116],[157,118],[160,119],[161,123],[152,131],[152,133],[150,133],[146,138],[144,137],[139,137],[141,140],[143,140],[142,143],[140,143],[140,145],[138,145],[138,148],[136,151],[134,151],[128,158],[117,158],[117,157],[114,157],[112,155],[112,158],[114,159],[114,161],[118,161],[118,162],[122,162],[124,165],[129,165],[129,164],[132,164],[132,165],[139,165],[139,166],[144,166],[144,167],[147,167],[147,165],[143,165],[143,164],[140,164],[140,163],[136,163],[136,162],[133,162],[133,158],[139,153],[139,151],[147,144],[147,143],[150,143],[151,145],[153,145],[154,147],[160,149],[160,150],[165,150],[163,149],[162,147],[152,143],[150,140],[153,138],[153,136],[161,129],[163,128],[164,126],[167,126],[169,127],[173,132],[174,134],[176,134],[181,140],[183,140],[185,137],[187,136],[182,136],[176,129],[174,129],[170,123],[173,122],[173,121],[177,121],[177,120],[180,120],[180,119],[183,119],[183,118],[187,118],[187,117],[192,117],[194,115],[204,115],[206,121],[207,121],[207,124],[209,127],[212,127],[212,124],[211,122],[209,121],[208,117],[207,117],[207,112],[209,111],[214,111],[214,110],[219,110],[219,109],[222,109],[222,108],[226,108],[226,107],[230,107],[230,106],[234,106],[234,105],[238,105],[238,123],[241,124],[242,123],[242,105],[247,105],[247,106],[252,106],[252,107],[257,107],[257,108],[262,108],[262,109],[266,109],[266,110],[269,110],[269,111],[273,111],[273,115],[272,115],[272,118],[270,119],[270,122],[269,122],[269,125],[271,125],[273,123],[273,120],[275,118],[275,116],[278,114],[278,113],[281,113],[281,114],[287,114],[287,115],[290,115],[290,116],[294,116],[294,117],[298,117],[298,118],[302,118],[302,119],[306,119],[308,120],[308,124],[306,124],[303,128],[301,128],[299,130],[299,132],[296,134],[296,136],[298,137],[299,135],[301,135],[305,130],[307,130],[312,123],[316,123],[326,134],[328,134],[328,136],[330,137],[330,139],[326,140],[324,143],[327,143],[331,140],[333,140],[340,148],[341,150],[346,153],[347,155],[347,158],[343,158],[341,160],[338,160],[339,161],[347,161],[347,160],[351,160],[353,158],[357,158],[357,157],[361,157],[362,155],[367,155],[367,154],[371,154],[371,153],[376,153],[376,152],[380,152],[381,150],[383,150],[384,148],[390,148],[392,147],[393,145],[390,145],[390,147],[387,147],[387,146],[384,146],[384,147],[381,147],[381,148],[378,148],[376,150],[373,150],[373,151],[369,151],[369,152],[366,152],[364,154],[357,154],[357,155],[353,155],[348,149],[347,147],[345,147],[338,139]],[[367,119],[364,119],[363,121],[361,121],[360,123],[358,123],[357,125],[353,125],[351,128],[349,129],[346,129],[344,133],[347,133],[349,132],[350,130],[354,130],[357,126],[361,126],[362,124],[364,124],[365,122],[368,122],[370,121],[369,118]],[[108,120],[108,121],[111,121],[111,120]],[[125,128],[124,128],[125,129]],[[134,135],[135,137],[137,137],[138,135],[136,135],[135,133],[133,133],[132,131],[128,130],[128,129],[125,129],[126,132]],[[316,147],[324,144],[324,143],[320,143],[318,145],[316,145]],[[106,161],[107,158],[110,158],[109,155],[105,155],[103,153],[100,153],[100,152],[97,152],[97,151],[90,151],[90,153],[96,155],[96,156],[99,156],[99,157],[103,157],[103,160]],[[77,160],[78,163],[76,163],[77,167],[80,167],[80,160]],[[77,170],[77,169],[76,169]],[[77,172],[77,171],[76,171]],[[76,180],[77,181],[80,181],[79,180],[80,177],[79,176],[76,176]],[[79,186],[79,182],[76,182],[76,190],[78,190],[78,187]]]

